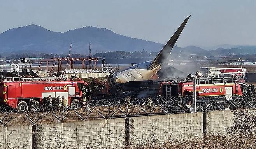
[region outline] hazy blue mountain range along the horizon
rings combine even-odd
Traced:
[[[91,53],[109,51],[160,51],[163,44],[153,41],[131,38],[112,32],[106,28],[87,26],[69,30],[67,32],[53,32],[38,25],[28,25],[12,28],[0,33],[0,54],[10,53],[68,53],[72,41],[72,53],[88,54],[89,41]],[[172,54],[256,54],[256,46],[231,46],[224,48],[205,50],[197,46],[177,47]],[[225,49],[232,47],[230,49]]]

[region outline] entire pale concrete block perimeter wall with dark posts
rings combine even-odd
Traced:
[[[152,139],[165,142],[186,135],[225,133],[233,117],[233,112],[224,110],[0,127],[0,148],[124,148]]]

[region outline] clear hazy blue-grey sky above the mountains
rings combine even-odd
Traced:
[[[0,0],[0,33],[36,24],[66,32],[83,26],[165,44],[186,16],[177,45],[256,45],[255,0]]]

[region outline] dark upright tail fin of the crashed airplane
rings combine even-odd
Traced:
[[[177,29],[177,31],[174,33],[174,35],[172,35],[170,40],[167,42],[167,44],[165,44],[163,49],[160,51],[160,53],[158,53],[156,58],[153,60],[153,62],[151,63],[151,65],[149,65],[149,67],[147,69],[152,69],[152,68],[160,66],[163,63],[163,61],[169,56],[170,52],[172,51],[172,48],[174,47],[174,44],[176,43],[177,39],[179,38],[179,35],[181,35],[183,28],[185,27],[186,23],[188,22],[189,17],[190,16],[188,16],[183,21],[181,26]]]

